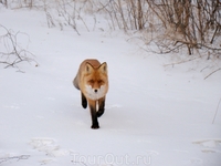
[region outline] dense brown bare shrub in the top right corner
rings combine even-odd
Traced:
[[[158,45],[162,53],[186,46],[189,54],[204,49],[220,55],[221,4],[219,0],[147,0],[149,10],[160,20],[164,41]],[[158,41],[159,42],[159,41]]]

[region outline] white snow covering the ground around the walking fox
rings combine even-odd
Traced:
[[[39,64],[0,64],[0,165],[220,166],[221,73],[203,80],[207,61],[165,66],[173,55],[147,53],[120,31],[50,29],[39,10],[0,7],[0,22]],[[108,65],[99,129],[72,84],[87,58]]]

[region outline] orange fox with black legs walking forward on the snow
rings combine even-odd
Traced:
[[[105,98],[108,92],[107,63],[99,63],[96,59],[84,60],[73,80],[73,85],[81,91],[83,108],[90,105],[92,126],[99,128],[97,117],[105,111]]]

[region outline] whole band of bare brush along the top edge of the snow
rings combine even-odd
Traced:
[[[6,0],[4,0],[6,1]],[[105,17],[110,30],[139,32],[146,50],[158,53],[221,54],[220,0],[17,0],[22,6],[43,7],[48,27],[72,27],[80,34],[80,23],[90,31],[85,12]],[[8,1],[6,1],[8,2]],[[43,4],[42,4],[43,3]],[[82,29],[82,27],[81,27]],[[157,50],[152,50],[152,44]]]

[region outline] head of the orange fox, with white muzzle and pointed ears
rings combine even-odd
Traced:
[[[91,100],[104,97],[108,91],[107,63],[93,66],[87,62],[84,73],[85,95]]]

